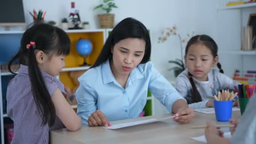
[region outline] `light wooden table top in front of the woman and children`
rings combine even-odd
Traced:
[[[129,120],[114,121],[112,124],[127,123],[150,118],[168,117],[170,114],[140,117]],[[240,118],[240,111],[233,111],[233,119]],[[189,126],[203,125],[206,121],[216,122],[215,114],[195,112],[195,118],[188,124],[179,124],[172,119],[136,125],[133,127],[110,130],[102,127],[83,126],[79,131],[67,129],[51,131],[52,144],[203,144],[190,139],[204,135],[204,129],[191,129]],[[216,122],[228,124],[228,122]],[[228,131],[228,128],[224,129]]]

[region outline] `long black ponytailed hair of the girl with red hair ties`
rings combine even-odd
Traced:
[[[35,42],[35,47],[30,46],[27,49],[27,44],[31,41]],[[51,96],[45,86],[40,68],[37,65],[35,57],[36,50],[43,51],[50,56],[53,54],[68,55],[70,51],[69,37],[60,28],[53,27],[49,24],[36,24],[24,32],[21,38],[19,52],[8,64],[8,70],[14,75],[16,74],[11,70],[11,65],[16,59],[18,59],[19,64],[27,65],[32,93],[37,108],[40,111],[42,125],[48,123],[49,126],[52,126],[55,121],[56,111]]]

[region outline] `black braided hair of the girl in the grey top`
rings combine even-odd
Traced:
[[[188,49],[191,45],[198,44],[198,43],[203,44],[206,48],[209,48],[209,50],[211,51],[211,54],[213,55],[213,58],[216,58],[216,56],[218,56],[218,54],[217,54],[218,53],[218,45],[208,35],[195,35],[194,37],[192,37],[187,43],[187,46],[185,49],[185,55],[187,56]],[[219,68],[219,72],[224,73],[223,69],[221,68],[221,64],[219,62],[217,63],[217,67]],[[194,80],[192,78],[192,74],[190,72],[189,72],[189,81],[192,85],[192,90],[193,90],[192,103],[202,101],[201,95],[195,86],[195,82],[194,82]]]

